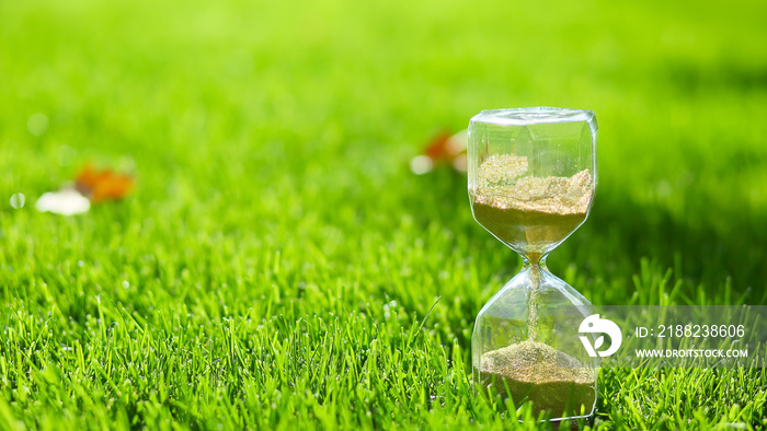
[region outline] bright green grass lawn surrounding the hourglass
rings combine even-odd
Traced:
[[[484,108],[596,112],[595,207],[549,258],[594,303],[767,304],[766,13],[0,1],[0,428],[515,424],[468,373],[518,258],[462,176],[407,167]],[[135,194],[34,210],[89,161]],[[766,389],[760,369],[603,370],[594,426],[760,428]]]

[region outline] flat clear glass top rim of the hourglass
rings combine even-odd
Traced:
[[[485,109],[471,118],[471,123],[499,126],[528,126],[546,123],[588,123],[596,130],[596,115],[588,109],[571,109],[549,106]]]

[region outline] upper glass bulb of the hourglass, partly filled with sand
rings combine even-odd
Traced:
[[[474,219],[535,260],[588,215],[596,185],[596,116],[552,107],[483,110],[469,124]]]

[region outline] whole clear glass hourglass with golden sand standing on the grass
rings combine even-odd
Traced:
[[[596,359],[577,337],[592,304],[546,267],[548,254],[588,215],[596,136],[591,110],[483,110],[469,123],[474,219],[524,263],[477,316],[474,384],[517,407],[531,401],[552,421],[591,417],[596,405]]]

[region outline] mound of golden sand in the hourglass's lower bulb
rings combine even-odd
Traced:
[[[482,354],[480,363],[481,387],[511,396],[517,406],[533,400],[536,415],[580,415],[581,406],[588,413],[594,405],[595,371],[542,342],[527,340],[493,350]]]

